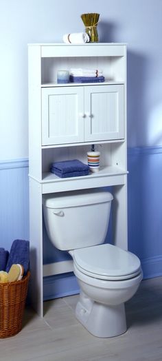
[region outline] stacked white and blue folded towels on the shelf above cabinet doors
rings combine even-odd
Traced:
[[[71,83],[102,83],[104,81],[102,70],[74,68],[70,70]]]

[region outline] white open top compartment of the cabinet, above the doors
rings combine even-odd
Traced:
[[[71,68],[102,70],[106,79],[104,83],[126,82],[126,47],[124,44],[86,43],[76,45],[62,43],[36,46],[40,46],[42,86],[56,86],[58,70],[70,70]],[[78,85],[78,83],[71,85]],[[86,83],[86,85],[88,84]]]

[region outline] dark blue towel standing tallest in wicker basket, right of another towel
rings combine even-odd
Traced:
[[[12,265],[19,263],[24,268],[24,276],[30,265],[30,242],[29,240],[14,240],[12,243],[8,263],[5,271],[10,271]]]

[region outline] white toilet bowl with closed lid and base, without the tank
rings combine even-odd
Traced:
[[[89,247],[88,254],[84,250],[73,252],[73,271],[82,290],[76,318],[94,336],[118,336],[127,329],[124,302],[142,279],[139,258],[108,244]]]

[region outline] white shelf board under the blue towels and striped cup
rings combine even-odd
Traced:
[[[43,173],[42,193],[65,192],[73,189],[86,189],[95,187],[106,187],[112,185],[124,185],[128,172],[117,167],[100,167],[100,171],[88,176],[71,178],[59,178],[55,174]]]

